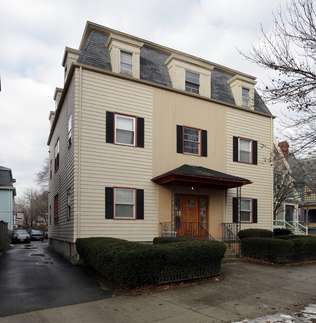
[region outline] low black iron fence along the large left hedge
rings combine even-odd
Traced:
[[[211,277],[220,274],[221,264],[202,268],[182,268],[163,270],[159,274],[159,284],[171,283],[180,280],[189,280],[203,277]]]

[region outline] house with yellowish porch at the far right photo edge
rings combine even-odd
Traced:
[[[292,168],[292,174],[297,182],[299,203],[299,223],[308,227],[308,233],[316,233],[316,164],[315,159],[297,159],[289,153],[289,144],[280,146],[285,158]],[[280,144],[279,144],[280,145]]]

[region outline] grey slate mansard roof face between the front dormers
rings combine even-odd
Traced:
[[[77,62],[112,71],[110,53],[105,46],[107,39],[107,35],[92,31]],[[147,48],[146,45],[140,48],[140,79],[172,87],[170,75],[165,65],[165,61],[169,56],[169,54],[156,49]],[[218,68],[214,68],[211,72],[211,98],[236,104],[230,86],[227,83],[233,76]],[[256,90],[254,110],[271,114]]]

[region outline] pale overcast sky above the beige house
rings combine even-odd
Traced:
[[[284,5],[285,0],[281,0]],[[0,0],[0,163],[17,194],[48,156],[49,112],[63,87],[65,46],[79,48],[87,20],[267,80],[236,47],[273,27],[276,0]],[[281,115],[280,106],[269,106]]]

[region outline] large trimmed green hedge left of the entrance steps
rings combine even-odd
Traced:
[[[226,251],[224,243],[203,239],[152,245],[115,238],[80,238],[76,247],[85,262],[125,288],[157,284],[164,270],[220,266]]]

